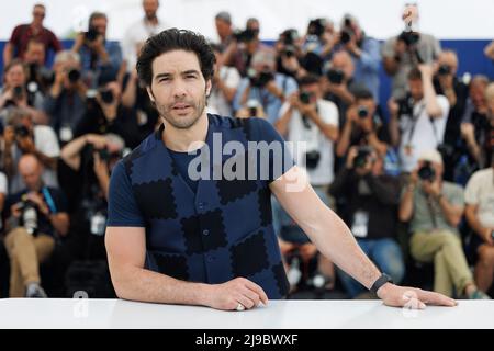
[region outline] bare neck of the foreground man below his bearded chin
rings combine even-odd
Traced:
[[[187,152],[201,147],[201,145],[197,145],[191,148],[193,143],[205,141],[207,127],[209,121],[205,112],[203,112],[198,122],[188,129],[176,128],[165,121],[165,131],[161,135],[161,140],[167,148],[173,151]]]

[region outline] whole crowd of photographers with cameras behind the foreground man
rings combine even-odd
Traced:
[[[77,291],[78,279],[80,290],[98,284],[82,273],[103,274],[104,264],[88,262],[105,260],[112,168],[160,122],[135,70],[146,38],[167,29],[158,7],[144,0],[144,16],[122,43],[106,41],[101,12],[65,50],[43,26],[42,4],[32,23],[14,29],[0,90],[0,295],[46,296],[49,261],[65,284],[55,295]],[[255,18],[235,30],[220,12],[214,24],[209,112],[267,118],[287,140],[304,141],[294,157],[314,190],[396,283],[430,263],[435,291],[489,298],[494,83],[459,77],[456,53],[416,23],[380,43],[350,14],[339,23],[314,19],[306,33],[288,29],[273,45],[260,41]],[[386,104],[379,103],[381,65],[392,81]],[[272,208],[293,292],[364,292],[317,253],[276,199]]]

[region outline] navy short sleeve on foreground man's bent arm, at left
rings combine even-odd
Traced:
[[[110,178],[106,225],[109,227],[145,226],[122,160],[115,165]]]

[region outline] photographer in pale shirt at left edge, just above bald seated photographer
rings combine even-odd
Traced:
[[[56,166],[60,148],[57,137],[52,127],[33,125],[29,110],[14,109],[10,112],[1,151],[1,163],[9,178],[9,193],[19,192],[25,186],[21,174],[16,172],[18,162],[25,154],[33,154],[42,162],[43,182],[58,188]]]

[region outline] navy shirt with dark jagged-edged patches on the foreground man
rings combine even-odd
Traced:
[[[209,284],[243,276],[259,284],[269,298],[281,298],[289,284],[272,228],[269,183],[293,166],[290,151],[265,120],[207,118],[210,177],[191,189],[161,140],[161,125],[113,169],[108,226],[145,228],[149,270]],[[232,152],[215,160],[213,136],[221,136],[222,148],[227,141],[244,146],[249,156],[242,158],[245,169],[256,163],[256,177],[213,179],[215,169],[245,156]],[[274,167],[276,156],[270,154],[270,169],[262,173],[259,151],[249,151],[248,141],[279,143],[282,168]]]

